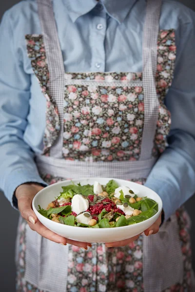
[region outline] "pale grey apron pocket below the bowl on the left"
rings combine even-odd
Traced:
[[[41,237],[26,225],[25,281],[47,292],[65,292],[68,245]]]

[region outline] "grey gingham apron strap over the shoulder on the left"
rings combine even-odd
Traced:
[[[64,100],[64,63],[59,44],[58,31],[51,0],[37,0],[40,26],[43,34],[47,64],[49,69],[49,91],[59,110],[60,134],[50,149],[50,155],[62,157],[63,145],[63,100]]]

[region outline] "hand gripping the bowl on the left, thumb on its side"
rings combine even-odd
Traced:
[[[36,183],[21,184],[16,189],[16,198],[18,199],[18,207],[21,216],[27,221],[30,228],[38,232],[42,237],[45,237],[51,241],[66,245],[67,243],[76,245],[78,247],[87,249],[87,246],[91,244],[86,242],[74,241],[61,237],[51,230],[47,229],[37,218],[35,212],[32,209],[32,201],[35,195],[43,189],[43,186]]]

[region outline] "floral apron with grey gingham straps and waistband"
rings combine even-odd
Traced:
[[[164,98],[173,79],[175,31],[159,31],[161,0],[147,1],[142,73],[65,73],[51,1],[37,2],[43,34],[26,40],[47,100],[45,147],[36,158],[41,177],[49,184],[89,176],[145,183],[171,125]],[[20,219],[17,291],[188,292],[189,228],[180,208],[155,236],[84,251],[51,242]]]

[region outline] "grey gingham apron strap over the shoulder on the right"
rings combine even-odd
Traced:
[[[140,160],[152,156],[159,100],[156,93],[157,38],[162,0],[147,0],[146,18],[143,29],[143,91],[144,127]]]

